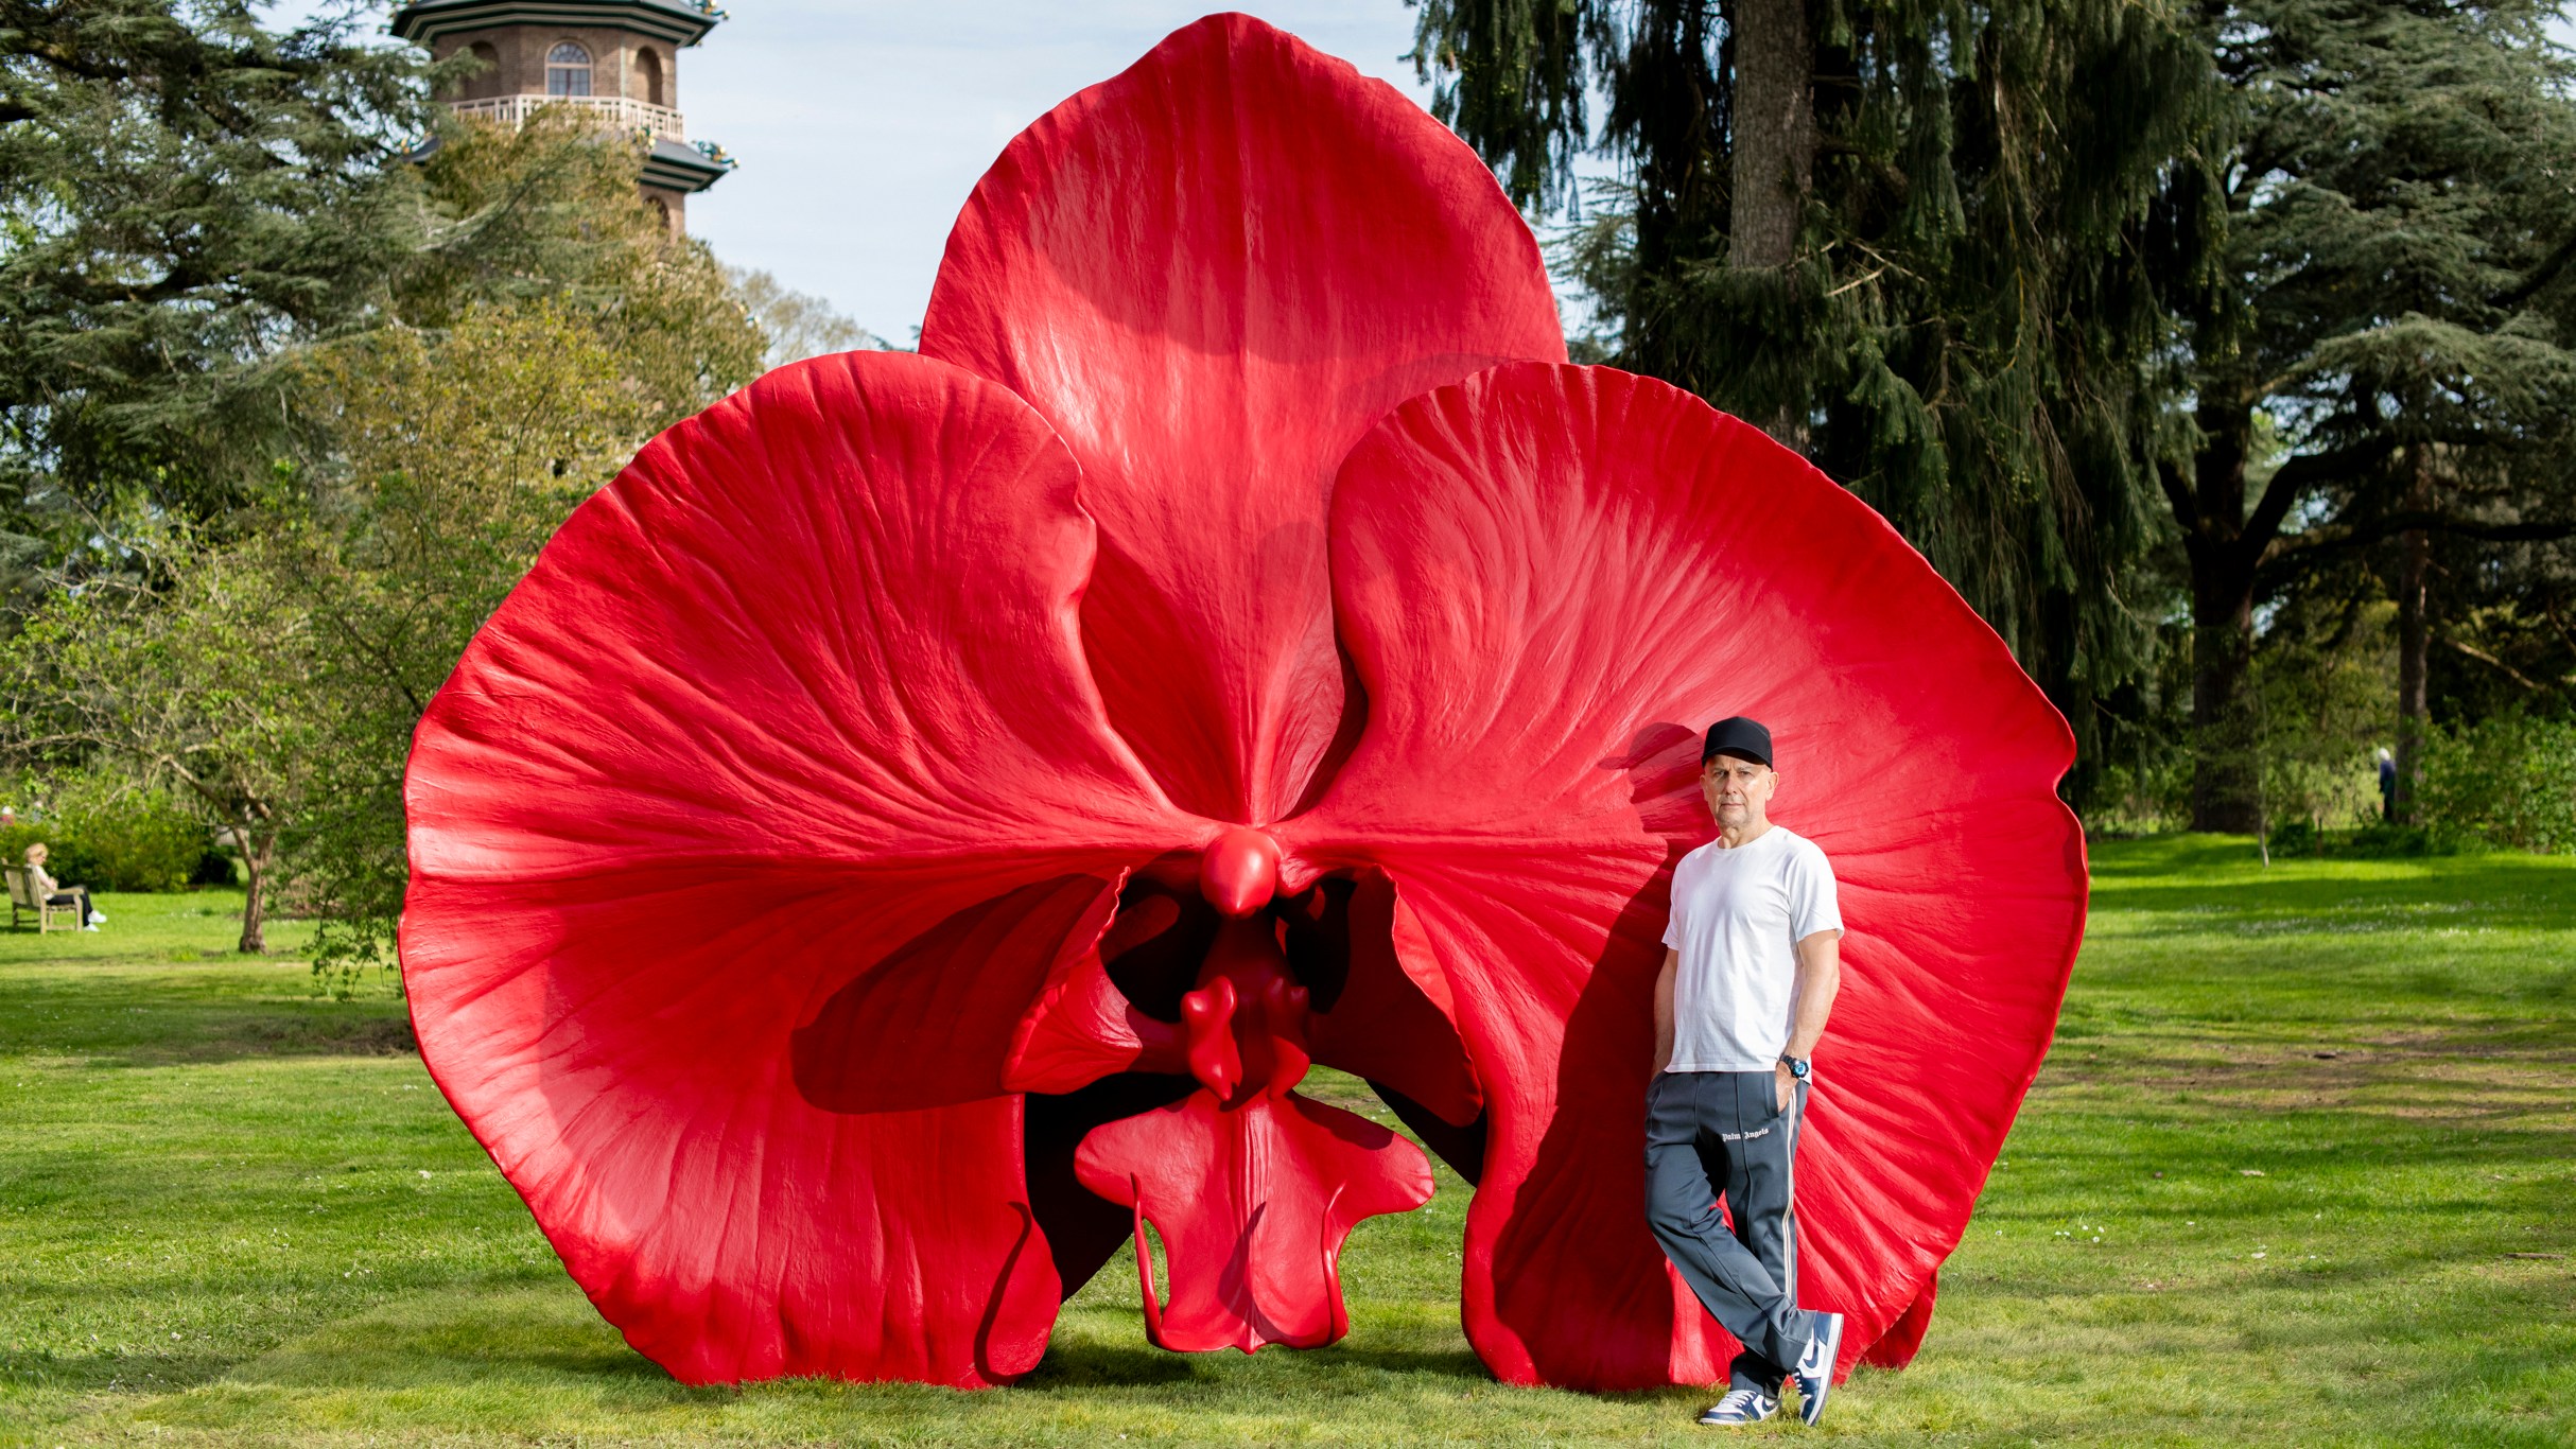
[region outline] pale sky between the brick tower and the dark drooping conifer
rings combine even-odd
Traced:
[[[278,0],[270,26],[327,0]],[[1221,0],[724,0],[680,51],[693,142],[739,162],[688,198],[716,257],[912,345],[948,226],[1002,144]],[[1419,103],[1404,0],[1239,5]],[[386,13],[392,5],[386,5]]]

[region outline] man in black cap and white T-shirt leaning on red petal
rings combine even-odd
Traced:
[[[1798,1307],[1790,1192],[1808,1055],[1842,981],[1842,914],[1824,852],[1770,824],[1777,788],[1767,728],[1741,715],[1708,728],[1700,793],[1718,839],[1672,870],[1654,978],[1646,1220],[1690,1292],[1744,1343],[1726,1398],[1700,1423],[1762,1423],[1780,1410],[1783,1377],[1798,1382],[1798,1416],[1816,1423],[1842,1351],[1842,1315]]]

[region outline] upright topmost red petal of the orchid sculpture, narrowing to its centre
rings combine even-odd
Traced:
[[[1110,715],[1175,800],[1262,824],[1345,726],[1324,566],[1342,453],[1427,386],[1566,347],[1538,245],[1466,144],[1350,64],[1211,15],[1002,152],[948,237],[922,353],[1072,445]]]

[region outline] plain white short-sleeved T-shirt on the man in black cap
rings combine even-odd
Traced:
[[[1772,826],[1726,849],[1713,839],[1672,867],[1672,1066],[1770,1071],[1798,1009],[1795,945],[1839,932],[1834,867],[1816,842]]]

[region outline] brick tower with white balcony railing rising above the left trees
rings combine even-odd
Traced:
[[[644,134],[644,201],[680,232],[688,198],[734,170],[724,147],[690,144],[680,118],[680,51],[719,21],[714,0],[415,0],[392,31],[433,59],[484,62],[443,95],[459,116],[518,126],[541,106],[577,106],[603,131]]]

